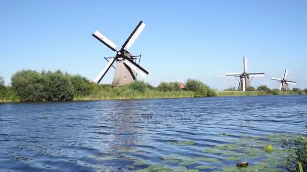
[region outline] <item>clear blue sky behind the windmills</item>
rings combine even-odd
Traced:
[[[62,69],[94,79],[115,53],[91,34],[121,46],[137,23],[145,29],[130,48],[142,54],[145,81],[199,79],[219,90],[238,85],[247,56],[257,87],[270,77],[307,88],[307,1],[0,1],[0,75],[20,69]],[[110,83],[114,70],[102,80]],[[292,87],[293,88],[293,87]]]

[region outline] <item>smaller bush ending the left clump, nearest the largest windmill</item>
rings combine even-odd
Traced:
[[[89,94],[89,80],[79,74],[70,75],[70,80],[74,88],[74,94],[88,95]]]

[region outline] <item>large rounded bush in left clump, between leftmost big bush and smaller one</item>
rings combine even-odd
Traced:
[[[74,87],[70,76],[63,74],[61,70],[55,72],[42,71],[44,97],[47,101],[73,100]]]

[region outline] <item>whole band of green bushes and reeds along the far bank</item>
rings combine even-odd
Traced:
[[[262,96],[262,95],[299,95],[307,89],[294,88],[285,92],[269,89],[261,85],[257,89],[250,87],[246,92],[236,88],[217,91],[203,82],[187,79],[185,91],[180,82],[161,82],[154,87],[144,81],[111,87],[110,84],[96,84],[79,74],[73,75],[61,70],[41,71],[21,70],[11,77],[11,85],[5,86],[0,76],[0,103],[32,101],[72,101],[72,100],[111,100],[111,99],[150,99],[150,98],[191,98],[214,96]]]

